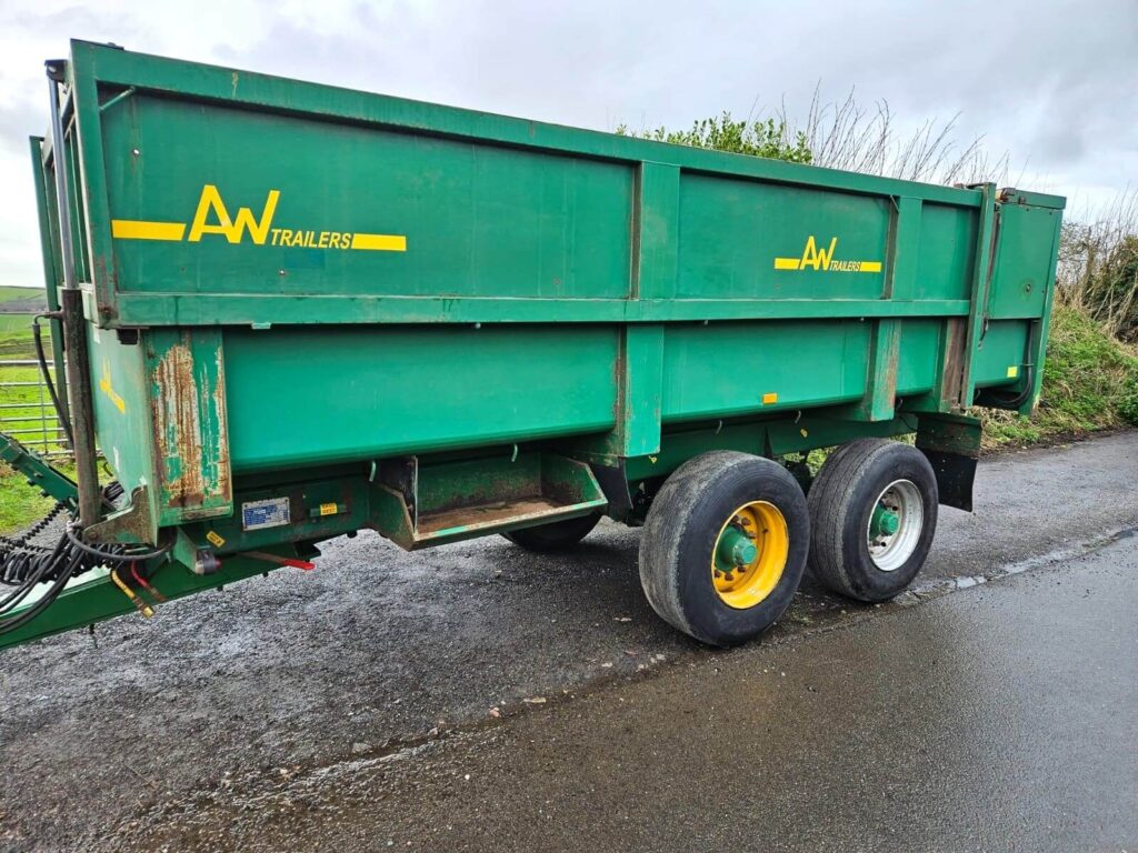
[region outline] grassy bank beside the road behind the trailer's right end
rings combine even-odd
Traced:
[[[1025,447],[1138,424],[1138,356],[1074,308],[1056,306],[1039,408],[984,409],[986,447]]]

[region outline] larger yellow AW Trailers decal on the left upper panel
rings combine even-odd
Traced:
[[[244,242],[246,237],[256,246],[287,246],[304,249],[362,249],[370,251],[406,251],[407,238],[403,234],[369,234],[360,231],[315,231],[273,227],[273,216],[280,190],[270,190],[261,216],[248,207],[239,207],[230,216],[217,188],[207,183],[201,188],[198,208],[185,235],[184,222],[148,222],[145,220],[112,220],[110,235],[116,240],[165,240],[196,243],[206,234],[220,234],[231,243]]]

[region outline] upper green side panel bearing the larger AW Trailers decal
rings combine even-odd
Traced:
[[[102,122],[122,292],[628,295],[629,165],[146,96]]]

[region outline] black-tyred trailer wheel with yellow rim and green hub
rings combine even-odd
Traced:
[[[737,645],[790,606],[809,539],[806,496],[782,465],[706,453],[681,465],[652,500],[641,583],[673,627],[710,645]]]

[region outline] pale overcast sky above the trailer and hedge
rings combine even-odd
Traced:
[[[927,8],[926,8],[927,7]],[[855,89],[1011,156],[1016,182],[1138,185],[1138,0],[838,3],[0,0],[0,283],[42,284],[27,136],[69,38],[612,130],[805,111]]]

